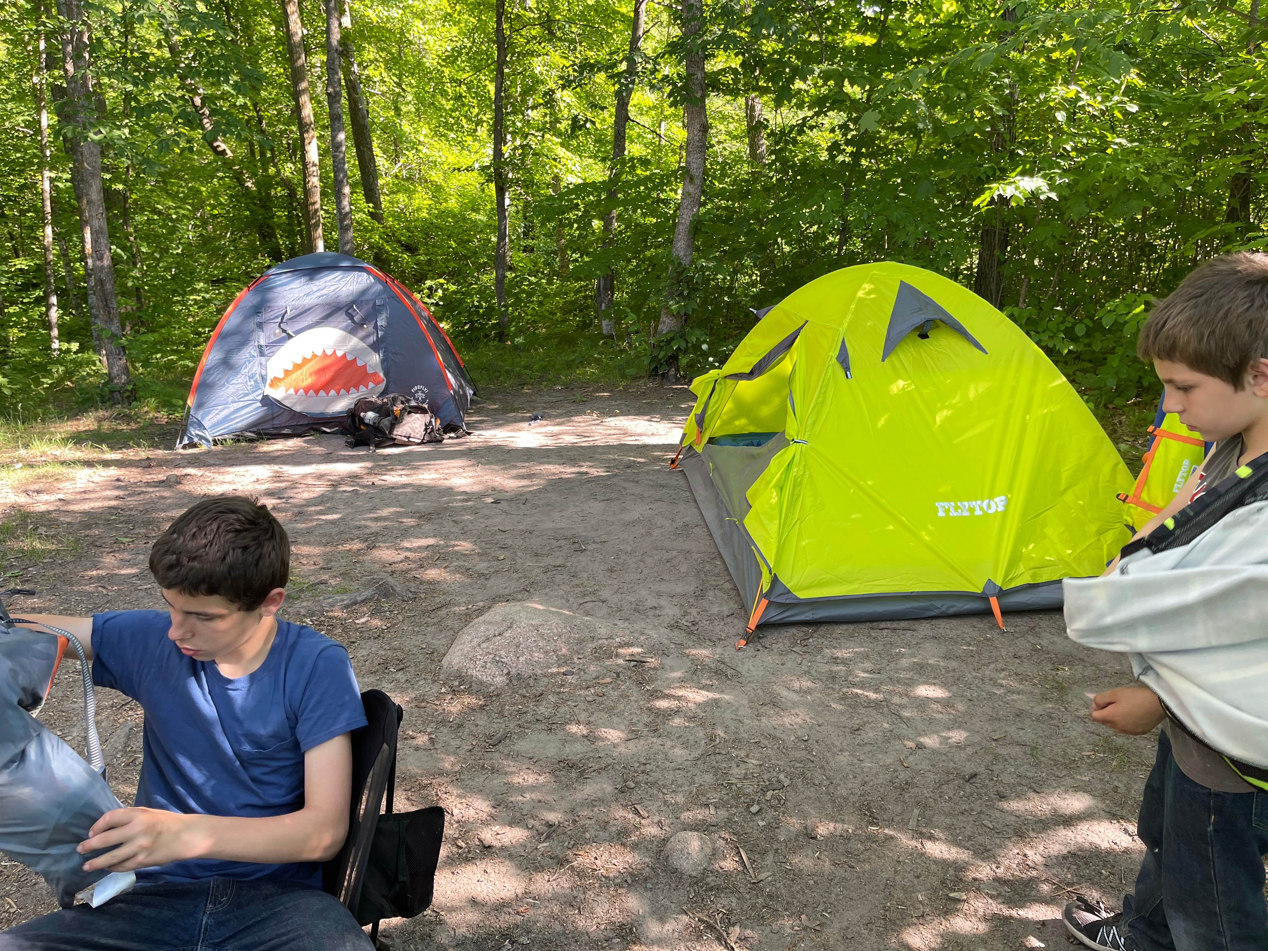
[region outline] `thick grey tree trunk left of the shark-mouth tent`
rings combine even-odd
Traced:
[[[82,0],[57,0],[57,13],[63,23],[63,119],[71,147],[71,183],[79,202],[80,228],[84,235],[93,340],[105,366],[112,398],[123,402],[131,396],[132,375],[122,346],[123,331],[114,292],[114,261],[110,257],[110,230],[105,219],[105,193],[101,185],[101,146],[89,138],[98,115],[89,61],[89,24]]]

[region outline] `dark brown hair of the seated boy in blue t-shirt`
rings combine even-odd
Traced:
[[[290,577],[290,539],[259,498],[216,496],[185,511],[150,549],[158,587],[219,595],[254,611]]]

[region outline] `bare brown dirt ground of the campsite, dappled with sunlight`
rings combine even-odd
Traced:
[[[449,814],[435,905],[384,924],[396,948],[1064,947],[1061,905],[1117,904],[1141,855],[1153,738],[1085,715],[1125,664],[1051,612],[1007,633],[988,616],[771,628],[737,652],[744,609],[668,468],[690,399],[491,393],[470,439],[378,454],[337,436],[127,448],[126,427],[13,450],[0,579],[38,588],[15,598],[30,611],[158,607],[156,534],[200,496],[259,493],[294,544],[283,615],[404,708],[398,808]],[[330,607],[383,574],[411,600]],[[441,677],[458,631],[503,602],[619,626],[652,663],[596,650],[505,689]],[[42,714],[72,743],[76,667]],[[127,803],[142,713],[99,700]],[[711,846],[697,876],[666,861],[682,831]],[[0,927],[51,910],[0,865]]]

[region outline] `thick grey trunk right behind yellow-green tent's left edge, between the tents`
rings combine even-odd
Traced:
[[[673,245],[670,259],[670,279],[666,285],[666,302],[661,307],[661,322],[657,336],[675,333],[682,330],[687,321],[689,271],[695,251],[696,218],[700,214],[700,199],[705,186],[705,148],[709,139],[709,115],[705,112],[705,49],[700,30],[704,22],[701,0],[682,0],[682,38],[687,49],[686,81],[687,101],[682,109],[682,122],[687,131],[686,155],[683,161],[682,191],[678,195],[678,222],[673,228]],[[664,378],[675,382],[678,378],[678,355],[667,354],[663,361]]]

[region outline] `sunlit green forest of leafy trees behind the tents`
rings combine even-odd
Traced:
[[[4,406],[179,411],[224,307],[320,246],[477,384],[691,375],[888,259],[1144,406],[1150,302],[1264,242],[1241,3],[6,0]]]

